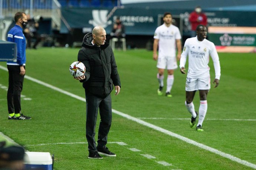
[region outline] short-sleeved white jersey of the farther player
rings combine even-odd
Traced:
[[[158,39],[159,56],[176,56],[176,40],[181,39],[180,30],[174,25],[167,27],[165,24],[157,27],[154,39]]]

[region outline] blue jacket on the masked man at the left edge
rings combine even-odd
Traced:
[[[17,44],[17,61],[8,61],[7,65],[22,66],[26,63],[26,38],[22,27],[15,25],[7,34],[7,41]]]

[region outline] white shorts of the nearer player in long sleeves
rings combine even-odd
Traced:
[[[210,76],[200,78],[200,79],[187,77],[186,91],[209,90],[209,89],[211,89],[210,82],[211,82]]]

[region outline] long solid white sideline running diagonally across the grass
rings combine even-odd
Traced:
[[[3,69],[3,70],[8,71],[8,70],[6,69],[6,67],[3,67],[3,66],[0,66],[0,69]],[[50,89],[59,91],[60,93],[66,94],[66,95],[68,95],[68,96],[70,96],[70,97],[74,97],[75,99],[78,99],[78,100],[81,100],[81,101],[86,101],[85,98],[83,98],[83,97],[80,97],[80,96],[77,96],[77,95],[75,95],[75,94],[69,93],[68,91],[59,89],[58,87],[52,86],[52,85],[50,85],[50,84],[48,84],[48,83],[45,83],[45,82],[43,82],[43,81],[34,79],[34,78],[32,78],[32,77],[29,77],[29,76],[25,76],[25,78],[26,78],[26,79],[29,79],[29,80],[31,80],[31,81],[34,81],[34,82],[36,82],[36,83],[38,83],[38,84],[41,84],[41,85],[43,85],[43,86],[49,87]],[[160,132],[162,132],[162,133],[164,133],[164,134],[167,134],[167,135],[169,135],[169,136],[172,136],[172,137],[175,137],[175,138],[180,139],[180,140],[182,140],[182,141],[185,141],[185,142],[187,142],[187,143],[189,143],[189,144],[193,144],[194,146],[200,147],[200,148],[205,149],[205,150],[208,150],[208,151],[210,151],[210,152],[212,152],[212,153],[218,154],[218,155],[220,155],[220,156],[222,156],[222,157],[226,157],[227,159],[233,160],[233,161],[235,161],[235,162],[237,162],[237,163],[240,163],[240,164],[243,164],[243,165],[245,165],[245,166],[248,166],[248,167],[251,167],[251,168],[256,169],[256,164],[253,164],[253,163],[250,163],[250,162],[248,162],[248,161],[242,160],[242,159],[237,158],[237,157],[235,157],[235,156],[232,156],[232,155],[230,155],[230,154],[227,154],[227,153],[224,153],[224,152],[219,151],[219,150],[217,150],[217,149],[214,149],[214,148],[211,148],[211,147],[209,147],[209,146],[206,146],[206,145],[204,145],[204,144],[198,143],[198,142],[196,142],[196,141],[194,141],[194,140],[188,139],[187,137],[184,137],[184,136],[181,136],[181,135],[179,135],[179,134],[173,133],[173,132],[171,132],[171,131],[169,131],[169,130],[166,130],[166,129],[163,129],[163,128],[161,128],[161,127],[155,126],[154,124],[147,123],[147,122],[145,122],[145,121],[143,121],[143,120],[140,120],[140,119],[138,119],[138,118],[136,118],[136,117],[132,117],[132,116],[130,116],[130,115],[128,115],[128,114],[122,113],[121,111],[117,111],[117,110],[115,110],[115,109],[112,109],[112,112],[115,113],[115,114],[118,114],[119,116],[125,117],[125,118],[127,118],[127,119],[129,119],[129,120],[132,120],[132,121],[135,121],[135,122],[137,122],[137,123],[139,123],[139,124],[142,124],[142,125],[144,125],[144,126],[150,127],[150,128],[152,128],[152,129],[154,129],[154,130],[160,131]]]

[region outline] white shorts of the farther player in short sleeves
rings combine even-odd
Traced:
[[[176,57],[158,56],[157,60],[158,69],[174,70],[178,68]]]

